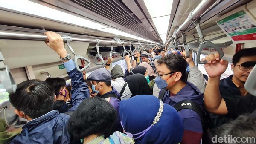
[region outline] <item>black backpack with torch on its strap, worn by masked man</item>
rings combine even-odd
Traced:
[[[160,90],[158,96],[160,100],[163,100],[165,92],[165,89]],[[182,100],[175,104],[173,107],[177,110],[177,112],[182,109],[191,109],[195,111],[200,116],[203,127],[202,144],[212,144],[212,134],[209,131],[210,118],[209,115],[207,115],[207,112],[204,110],[204,108],[201,108],[200,105],[193,100]]]

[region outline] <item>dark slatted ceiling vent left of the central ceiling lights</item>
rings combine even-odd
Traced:
[[[102,17],[108,18],[140,35],[155,40],[143,26],[140,19],[121,0],[70,0]]]

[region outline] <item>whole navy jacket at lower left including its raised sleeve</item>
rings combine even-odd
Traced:
[[[65,64],[71,64],[71,71],[68,71],[68,75],[71,78],[71,103],[72,107],[69,111],[75,111],[78,105],[89,97],[89,89],[86,82],[83,79],[83,74],[78,72],[75,68],[73,60],[68,61]],[[67,68],[67,66],[65,65]],[[17,135],[11,144],[70,144],[71,136],[67,132],[67,122],[70,116],[59,113],[56,110],[48,112],[39,118],[35,118],[29,121],[22,127],[22,131]]]

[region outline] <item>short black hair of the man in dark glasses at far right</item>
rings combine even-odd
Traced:
[[[233,56],[232,63],[236,65],[240,61],[240,58],[254,55],[256,55],[256,47],[241,49],[240,51],[236,52],[235,55]]]

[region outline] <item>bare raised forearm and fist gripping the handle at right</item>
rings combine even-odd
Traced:
[[[228,112],[227,106],[224,99],[221,98],[219,86],[221,74],[227,69],[228,62],[220,59],[218,53],[207,55],[202,61],[207,61],[204,64],[204,68],[209,75],[204,91],[204,105],[209,112],[225,115]]]

